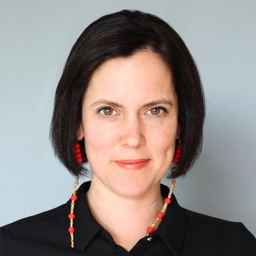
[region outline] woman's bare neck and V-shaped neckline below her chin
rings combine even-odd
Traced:
[[[127,251],[146,236],[156,212],[163,207],[160,183],[156,183],[143,195],[128,197],[117,195],[92,179],[86,199],[96,221]]]

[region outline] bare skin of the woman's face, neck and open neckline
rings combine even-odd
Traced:
[[[151,50],[105,62],[85,93],[77,137],[84,137],[91,167],[86,198],[96,220],[127,251],[163,205],[160,179],[180,134],[177,113],[170,70]],[[131,212],[142,218],[134,220]]]

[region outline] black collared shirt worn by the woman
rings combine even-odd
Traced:
[[[0,228],[0,255],[256,255],[256,240],[243,224],[185,210],[177,204],[174,195],[159,228],[151,236],[137,241],[128,253],[93,218],[84,196],[89,188],[90,182],[83,183],[77,192],[74,248],[70,247],[67,232],[70,211],[70,201],[67,201],[61,207]],[[169,189],[161,185],[163,197],[168,192]]]

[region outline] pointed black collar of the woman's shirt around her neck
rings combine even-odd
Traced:
[[[74,248],[84,251],[91,239],[102,230],[102,226],[96,222],[92,216],[90,208],[85,199],[85,193],[90,189],[90,182],[80,185],[77,195],[78,201],[75,201],[74,213]],[[161,195],[167,197],[169,188],[161,184]],[[71,201],[67,201],[67,215],[70,212]],[[68,219],[67,219],[68,220]],[[177,203],[174,195],[172,195],[172,203],[166,211],[166,216],[160,222],[158,229],[155,231],[160,238],[166,243],[170,251],[177,255],[182,247],[183,236],[186,230],[186,217],[182,207]]]

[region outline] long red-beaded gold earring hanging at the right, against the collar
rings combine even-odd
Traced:
[[[177,144],[177,148],[176,148],[176,151],[175,151],[175,154],[174,154],[174,158],[172,160],[172,172],[175,172],[177,170],[177,163],[178,163],[178,161],[180,159],[180,155],[181,155],[181,143],[180,143],[180,140],[179,140],[179,143]],[[154,220],[154,223],[151,224],[150,227],[148,227],[148,229],[147,229],[147,236],[154,232],[154,228],[155,228],[156,224],[158,224],[160,219],[165,217],[167,207],[172,202],[171,197],[172,197],[172,193],[173,193],[173,190],[175,188],[175,185],[176,185],[176,180],[173,178],[172,179],[172,187],[171,187],[171,189],[169,191],[168,196],[165,198],[165,204],[164,204],[162,210],[160,212],[156,213],[156,218]]]

